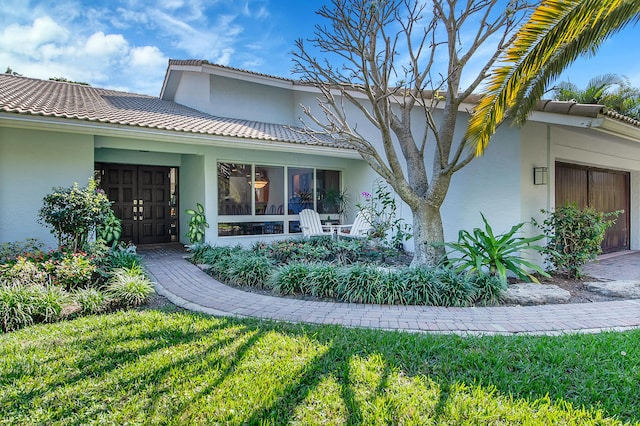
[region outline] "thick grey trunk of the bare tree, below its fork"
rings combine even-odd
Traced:
[[[415,243],[411,266],[435,266],[442,260],[445,249],[444,230],[440,206],[421,202],[413,213],[413,241]]]

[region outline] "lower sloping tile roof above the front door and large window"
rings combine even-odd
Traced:
[[[153,96],[8,74],[0,74],[0,112],[350,149],[302,128],[215,117]]]

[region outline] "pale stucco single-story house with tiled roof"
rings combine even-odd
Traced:
[[[313,108],[317,96],[295,80],[204,60],[170,60],[159,97],[0,75],[0,242],[54,245],[37,222],[42,198],[92,176],[137,244],[186,243],[184,211],[196,203],[212,244],[297,235],[308,207],[335,220],[340,191],[353,220],[377,175],[349,146],[304,131],[300,105]],[[624,210],[605,249],[640,249],[640,122],[597,105],[540,103],[456,173],[445,237],[478,226],[480,212],[501,232],[566,201]],[[401,214],[411,221],[406,206]]]

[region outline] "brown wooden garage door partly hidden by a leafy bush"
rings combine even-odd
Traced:
[[[556,163],[556,206],[576,203],[601,212],[623,210],[607,230],[602,251],[629,249],[629,173],[575,164]]]

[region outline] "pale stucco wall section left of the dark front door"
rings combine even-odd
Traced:
[[[92,136],[0,128],[0,242],[33,237],[54,247],[53,235],[37,223],[43,197],[92,176]]]

